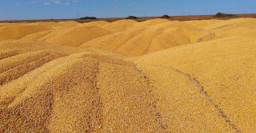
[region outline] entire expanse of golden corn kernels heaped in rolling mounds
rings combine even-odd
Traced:
[[[0,24],[0,132],[255,132],[256,20]]]

